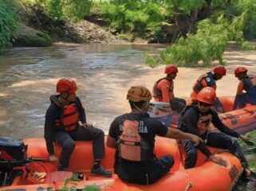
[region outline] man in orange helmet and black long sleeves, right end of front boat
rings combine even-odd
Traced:
[[[186,151],[185,169],[195,166],[197,159],[197,149],[201,150],[211,161],[219,165],[226,166],[218,155],[211,153],[206,146],[213,146],[220,149],[230,150],[241,161],[245,169],[246,175],[250,174],[246,158],[242,154],[242,150],[234,138],[241,138],[242,141],[248,140],[246,135],[238,134],[238,132],[226,127],[219,119],[218,113],[211,109],[215,102],[215,89],[211,87],[203,88],[197,96],[197,104],[192,104],[184,111],[179,129],[191,134],[198,135],[204,140],[199,146],[194,146],[191,141],[183,142],[184,150]],[[209,125],[213,123],[220,132],[210,132]],[[231,138],[234,137],[234,138]]]

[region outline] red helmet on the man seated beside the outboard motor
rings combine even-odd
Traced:
[[[74,80],[61,78],[57,82],[56,92],[69,92],[74,93],[77,91],[77,84]]]

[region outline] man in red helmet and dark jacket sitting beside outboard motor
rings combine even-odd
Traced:
[[[94,164],[91,175],[111,177],[112,173],[100,165],[100,159],[104,158],[104,131],[86,122],[85,108],[76,91],[77,84],[74,80],[62,78],[57,82],[56,92],[59,94],[50,96],[51,104],[45,114],[45,142],[49,160],[57,161],[53,142],[59,143],[62,150],[58,170],[66,170],[75,148],[74,141],[93,140]]]

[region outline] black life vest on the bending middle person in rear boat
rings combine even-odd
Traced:
[[[193,86],[193,90],[195,92],[200,92],[204,87],[202,84],[202,80],[205,79],[207,81],[207,87],[212,87],[215,86],[215,75],[212,72],[207,72],[206,74],[203,74],[201,76],[199,76],[199,79],[196,80],[194,86]]]

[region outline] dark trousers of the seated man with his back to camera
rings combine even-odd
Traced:
[[[169,172],[174,165],[174,159],[171,155],[165,155],[158,158],[152,164],[118,164],[117,174],[121,180],[130,183],[148,185],[152,184]]]

